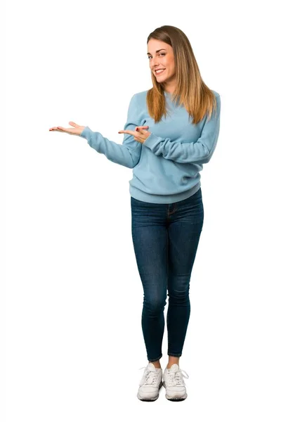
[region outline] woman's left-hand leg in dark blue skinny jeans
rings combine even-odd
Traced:
[[[141,325],[148,361],[160,367],[167,288],[165,205],[131,197],[132,238],[143,284]]]

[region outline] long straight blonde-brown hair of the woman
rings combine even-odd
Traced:
[[[177,27],[164,25],[151,32],[148,41],[151,38],[164,41],[174,51],[176,90],[171,100],[178,100],[179,105],[185,106],[192,117],[192,124],[200,122],[206,113],[209,113],[210,118],[214,108],[216,109],[216,98],[202,80],[188,37]],[[146,103],[150,116],[155,122],[159,122],[163,114],[166,117],[164,86],[157,82],[152,71],[151,77],[153,87],[148,90]]]

